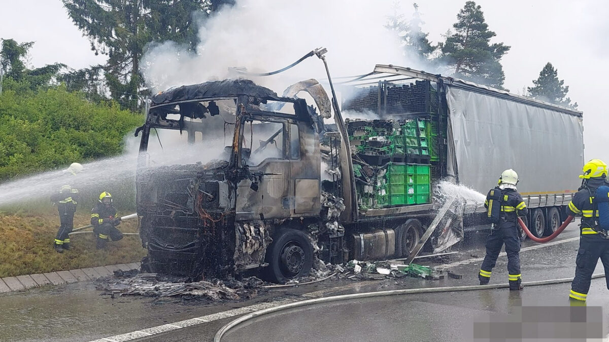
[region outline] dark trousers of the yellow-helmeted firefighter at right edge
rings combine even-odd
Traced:
[[[592,274],[599,262],[605,268],[605,281],[609,288],[609,240],[599,234],[582,234],[577,251],[575,277],[571,282],[569,298],[585,301],[590,290]]]

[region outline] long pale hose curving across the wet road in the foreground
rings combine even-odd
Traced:
[[[594,274],[592,279],[605,277],[605,274]],[[565,282],[571,282],[573,278],[563,278],[563,279],[549,279],[546,281],[530,281],[523,282],[523,285],[526,286],[537,286],[537,285],[550,285],[550,284],[561,284]],[[365,292],[365,293],[353,293],[352,295],[340,295],[340,296],[331,296],[325,298],[315,298],[315,299],[307,299],[305,301],[298,301],[284,305],[278,305],[276,307],[270,307],[269,309],[263,309],[259,311],[255,311],[252,313],[248,313],[245,316],[241,316],[234,321],[231,321],[222,329],[218,330],[216,336],[214,337],[214,342],[220,342],[222,337],[228,330],[233,329],[233,327],[238,324],[244,323],[252,318],[256,318],[262,315],[266,315],[267,313],[278,312],[286,309],[294,309],[296,307],[303,307],[311,304],[322,304],[327,302],[335,302],[335,301],[344,301],[347,299],[361,299],[361,298],[371,298],[371,297],[382,297],[382,296],[394,296],[394,295],[411,295],[414,293],[433,293],[433,292],[454,292],[454,291],[473,291],[473,290],[490,290],[492,288],[506,288],[510,287],[510,284],[493,284],[493,285],[471,285],[471,286],[452,286],[452,287],[428,287],[428,288],[408,288],[406,290],[389,290],[389,291],[376,291],[376,292]]]

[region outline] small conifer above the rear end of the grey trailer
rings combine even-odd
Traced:
[[[571,104],[571,99],[567,96],[569,86],[563,86],[564,80],[558,79],[558,69],[547,62],[541,69],[537,80],[533,80],[533,87],[527,87],[527,91],[534,99],[554,103],[561,106],[577,108],[577,102]]]

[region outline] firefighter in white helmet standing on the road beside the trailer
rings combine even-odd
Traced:
[[[498,186],[488,191],[484,208],[488,209],[487,215],[493,225],[487,237],[487,254],[478,274],[480,285],[486,285],[490,281],[491,271],[505,243],[510,290],[523,289],[518,255],[520,251],[518,217],[525,216],[528,209],[523,197],[516,190],[518,181],[518,174],[514,170],[505,170],[501,173]]]

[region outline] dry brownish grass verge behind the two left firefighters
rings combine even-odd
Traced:
[[[131,212],[119,213],[127,214]],[[88,211],[77,212],[74,228],[88,225],[90,217]],[[0,215],[0,277],[139,262],[146,255],[139,236],[125,236],[109,242],[107,250],[96,250],[93,233],[71,236],[71,250],[60,254],[53,248],[58,228],[57,211]],[[118,228],[122,232],[137,232],[138,220],[125,220]]]

